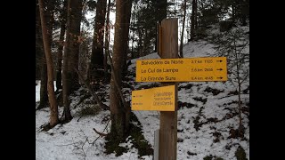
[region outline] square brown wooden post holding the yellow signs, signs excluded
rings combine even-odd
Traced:
[[[160,56],[162,59],[178,58],[178,19],[161,21]],[[176,160],[177,157],[177,83],[175,84],[175,111],[160,111],[159,160]]]

